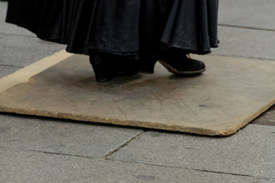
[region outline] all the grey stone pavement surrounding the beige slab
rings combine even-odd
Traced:
[[[212,54],[275,61],[273,0],[220,1]],[[64,48],[4,23],[0,77]],[[275,182],[275,107],[228,138],[0,114],[0,182]]]

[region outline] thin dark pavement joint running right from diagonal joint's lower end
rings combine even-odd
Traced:
[[[252,178],[263,179],[263,180],[275,180],[275,177],[258,177],[258,176],[247,175],[247,174],[228,173],[228,172],[223,172],[223,171],[208,171],[208,170],[203,170],[203,169],[191,169],[191,168],[182,167],[182,166],[169,166],[169,165],[162,165],[162,164],[151,164],[151,163],[146,163],[146,162],[129,162],[129,161],[115,160],[115,159],[106,159],[106,160],[112,161],[112,162],[124,162],[124,163],[129,163],[129,164],[144,164],[144,165],[148,165],[148,166],[184,169],[184,170],[189,170],[189,171],[201,171],[201,172],[206,172],[206,173],[218,173],[218,174],[223,174],[223,175],[236,175],[236,176],[241,176],[241,177],[252,177]]]

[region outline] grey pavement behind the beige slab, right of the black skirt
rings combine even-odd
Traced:
[[[219,48],[214,54],[275,59],[275,2],[219,1]]]

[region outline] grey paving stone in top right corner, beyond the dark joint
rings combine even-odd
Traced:
[[[219,1],[219,23],[275,30],[274,0]]]

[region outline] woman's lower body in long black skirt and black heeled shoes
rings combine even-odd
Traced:
[[[202,72],[186,54],[217,47],[217,12],[218,0],[13,0],[7,22],[89,55],[105,81],[153,73],[159,60],[175,74]]]

